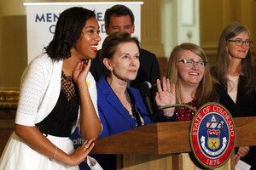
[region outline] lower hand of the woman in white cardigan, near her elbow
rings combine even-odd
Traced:
[[[93,143],[94,139],[86,139],[84,141],[84,144],[79,146],[77,150],[71,154],[70,157],[70,162],[68,163],[70,166],[77,166],[79,165],[82,161],[86,161],[86,157],[89,155],[90,150],[94,147]]]

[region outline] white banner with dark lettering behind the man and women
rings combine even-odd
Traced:
[[[27,28],[27,62],[42,54],[44,47],[52,40],[56,22],[67,8],[83,7],[94,10],[96,19],[100,26],[100,37],[98,49],[102,48],[102,42],[107,37],[104,25],[104,14],[107,8],[115,4],[123,4],[131,8],[135,16],[135,32],[132,36],[141,37],[141,5],[143,2],[95,2],[95,3],[24,3],[26,6],[26,28]]]

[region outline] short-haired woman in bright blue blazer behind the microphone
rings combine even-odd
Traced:
[[[136,88],[128,87],[139,69],[137,38],[126,32],[109,35],[102,44],[100,61],[107,77],[97,83],[97,102],[103,131],[100,138],[152,123]],[[97,156],[103,169],[116,169],[115,156]]]

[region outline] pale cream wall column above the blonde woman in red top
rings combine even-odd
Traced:
[[[161,36],[166,57],[183,42],[200,45],[199,2],[200,0],[161,0]],[[186,3],[190,4],[191,10],[182,10]]]

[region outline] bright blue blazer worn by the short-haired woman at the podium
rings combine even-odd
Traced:
[[[96,88],[98,111],[103,126],[99,139],[137,127],[137,121],[132,118],[113,93],[112,88],[110,88],[106,81],[106,77],[100,79]],[[134,101],[137,110],[141,113],[145,125],[152,123],[139,91],[136,88],[127,87],[127,89],[131,100]]]

